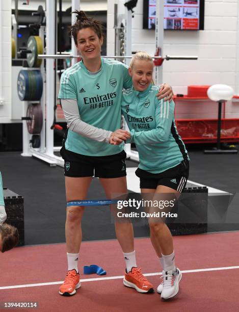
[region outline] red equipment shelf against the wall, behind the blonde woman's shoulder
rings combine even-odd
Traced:
[[[236,98],[236,96],[234,97]],[[233,100],[233,99],[232,99]],[[175,101],[175,123],[179,135],[184,143],[216,143],[217,142],[217,118],[210,118],[208,114],[204,118],[179,118],[180,109],[177,107],[182,102],[211,102],[206,96],[174,96]],[[210,104],[210,103],[209,103]],[[217,104],[217,103],[216,103]],[[225,103],[223,104],[223,115],[221,123],[221,142],[239,141],[239,118],[225,118]],[[217,110],[215,111],[215,113]],[[192,113],[192,112],[191,112]],[[210,111],[211,113],[211,111]],[[198,115],[200,117],[200,115]]]

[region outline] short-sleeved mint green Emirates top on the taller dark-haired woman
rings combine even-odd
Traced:
[[[122,89],[131,86],[128,67],[121,62],[101,58],[101,69],[92,74],[81,61],[62,74],[59,98],[76,99],[81,120],[86,123],[115,131],[121,126]],[[83,155],[105,156],[121,152],[124,144],[96,142],[69,129],[65,147]]]

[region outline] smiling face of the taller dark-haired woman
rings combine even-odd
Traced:
[[[100,58],[103,38],[99,38],[92,28],[84,28],[77,33],[76,48],[82,55],[83,62]]]

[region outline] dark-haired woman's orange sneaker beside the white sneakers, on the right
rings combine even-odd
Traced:
[[[124,285],[135,288],[139,293],[153,293],[153,285],[142,274],[141,268],[133,267],[130,272],[124,275]]]

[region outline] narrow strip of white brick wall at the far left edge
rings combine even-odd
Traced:
[[[11,2],[1,1],[0,4],[0,96],[3,104],[0,105],[0,122],[10,122],[11,118]]]

